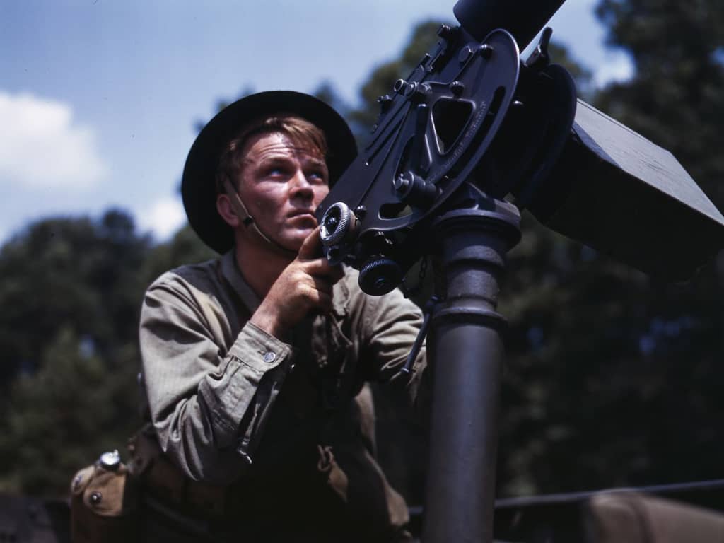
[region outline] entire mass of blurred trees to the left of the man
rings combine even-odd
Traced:
[[[138,313],[153,278],[209,258],[188,227],[152,245],[123,211],[43,219],[0,251],[0,488],[63,494],[140,424]]]

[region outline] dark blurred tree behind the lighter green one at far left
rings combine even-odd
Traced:
[[[141,278],[149,240],[132,219],[108,211],[98,221],[46,219],[0,250],[2,382],[34,371],[43,345],[60,326],[88,337],[101,355],[135,337]]]

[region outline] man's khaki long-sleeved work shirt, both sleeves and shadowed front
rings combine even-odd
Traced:
[[[318,470],[325,446],[349,473],[353,458],[379,472],[355,396],[366,381],[391,381],[416,398],[424,348],[411,376],[398,372],[421,311],[399,290],[366,295],[357,279],[348,270],[334,285],[332,313],[300,323],[288,343],[248,322],[261,300],[232,251],[156,279],[140,349],[151,421],[173,463],[191,479],[248,486],[285,466]]]

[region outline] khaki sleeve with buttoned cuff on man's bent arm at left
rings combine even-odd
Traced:
[[[233,337],[212,298],[161,276],[143,301],[140,349],[161,449],[193,479],[228,482],[251,463],[293,350],[248,322]]]

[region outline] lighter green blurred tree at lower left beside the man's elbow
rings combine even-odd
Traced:
[[[75,471],[105,450],[122,452],[138,426],[138,356],[132,345],[115,356],[99,357],[71,327],[49,338],[38,371],[12,386],[0,434],[3,489],[62,496]]]

